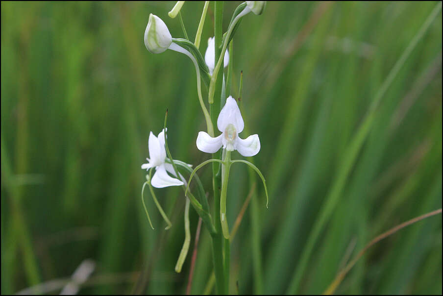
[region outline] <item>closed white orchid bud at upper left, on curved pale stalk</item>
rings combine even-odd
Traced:
[[[172,43],[172,36],[166,24],[156,15],[149,14],[145,30],[145,46],[152,53],[162,53]]]

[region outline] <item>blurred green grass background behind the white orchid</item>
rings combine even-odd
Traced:
[[[238,3],[225,2],[224,29]],[[243,70],[244,118],[260,136],[254,161],[271,199],[266,209],[256,187],[259,200],[231,248],[231,292],[237,280],[241,294],[287,291],[345,148],[436,3],[279,1],[244,18],[233,39],[232,95]],[[97,262],[96,275],[114,277],[82,293],[131,293],[137,277],[126,273],[142,270],[149,271],[147,293],[185,292],[191,253],[182,273],[173,271],[184,237],[182,193],[157,191],[173,223],[166,233],[153,210],[156,230],[149,228],[140,200],[148,134],[161,130],[166,108],[174,158],[197,165],[208,156],[195,147],[205,125],[192,64],[143,44],[149,13],[183,37],[178,20],[167,17],[173,4],[1,2],[2,294],[69,277],[86,258]],[[183,6],[191,38],[202,7]],[[203,53],[212,20],[210,5]],[[210,170],[201,178],[210,184]],[[230,225],[248,192],[246,169],[234,167]],[[440,207],[441,12],[381,99],[298,292],[323,292],[349,246],[355,254],[381,232]],[[258,219],[249,219],[251,209]],[[191,227],[194,240],[195,213]],[[203,230],[193,293],[202,293],[211,266]],[[442,217],[374,246],[337,293],[442,294]]]

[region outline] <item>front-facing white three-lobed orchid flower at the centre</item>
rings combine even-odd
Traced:
[[[245,127],[245,123],[237,102],[231,96],[226,99],[226,103],[220,111],[217,127],[222,134],[216,138],[204,131],[198,132],[197,148],[200,151],[215,153],[223,147],[227,151],[237,150],[246,157],[254,156],[260,151],[260,140],[257,134],[246,139],[241,139],[238,136]]]

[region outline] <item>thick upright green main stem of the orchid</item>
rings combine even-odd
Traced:
[[[220,45],[222,44],[222,19],[223,19],[223,1],[214,1],[214,39],[215,39],[215,57],[220,56]],[[217,61],[215,61],[217,62]],[[218,75],[214,102],[209,104],[211,120],[214,126],[217,126],[217,117],[220,113],[220,97],[222,95],[222,77]],[[213,158],[220,159],[220,152],[214,153]],[[216,234],[212,236],[212,256],[214,263],[214,273],[216,277],[216,293],[219,295],[227,294],[226,281],[224,278],[224,260],[223,260],[223,235],[222,225],[220,223],[220,183],[221,175],[219,173],[220,164],[212,165],[212,185],[214,190],[214,224]]]

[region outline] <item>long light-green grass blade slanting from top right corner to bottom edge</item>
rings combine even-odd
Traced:
[[[354,139],[347,147],[346,152],[343,154],[344,159],[342,160],[340,167],[338,169],[337,177],[334,180],[331,190],[325,199],[325,203],[321,208],[319,218],[316,220],[314,224],[313,230],[311,231],[307,243],[303,248],[300,261],[298,262],[295,268],[295,273],[292,278],[291,285],[287,291],[288,294],[295,294],[298,291],[300,281],[308,264],[311,253],[315,247],[315,243],[317,242],[317,239],[320,236],[320,232],[322,231],[324,224],[329,219],[330,215],[332,214],[332,211],[334,210],[337,202],[339,201],[342,195],[348,174],[351,168],[353,167],[358,152],[360,151],[360,148],[362,147],[366,139],[366,136],[368,135],[368,132],[372,126],[372,123],[376,116],[375,111],[377,110],[377,106],[379,105],[381,98],[388,90],[389,86],[393,82],[395,76],[398,74],[399,70],[403,66],[406,59],[409,57],[412,50],[415,49],[416,45],[418,44],[418,41],[423,37],[426,30],[429,28],[434,19],[437,17],[441,8],[442,8],[442,2],[437,3],[435,8],[428,16],[428,18],[425,20],[424,24],[418,30],[416,36],[412,39],[409,46],[404,50],[398,61],[395,63],[393,69],[388,74],[388,77],[383,82],[381,88],[379,89],[371,105],[369,106],[368,114],[364,122],[360,125]]]

